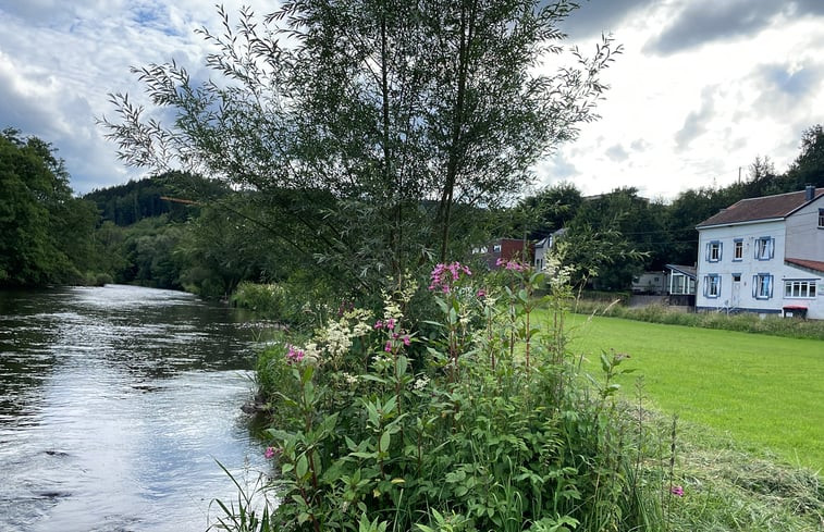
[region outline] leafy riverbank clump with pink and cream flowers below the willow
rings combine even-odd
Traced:
[[[643,436],[615,400],[624,359],[585,384],[565,345],[567,280],[441,265],[427,337],[405,280],[379,313],[347,310],[262,354],[271,530],[660,530],[660,487],[634,460]],[[544,326],[538,305],[557,312]]]

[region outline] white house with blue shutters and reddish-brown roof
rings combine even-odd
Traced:
[[[824,188],[742,199],[696,228],[697,310],[824,319]]]

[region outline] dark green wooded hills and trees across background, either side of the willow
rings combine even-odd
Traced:
[[[296,218],[324,223],[333,205],[346,207],[319,190],[261,194],[167,172],[75,197],[54,148],[13,128],[0,137],[0,180],[3,287],[116,282],[225,298],[243,281],[317,283],[335,275],[324,259],[330,249],[306,248],[294,233]],[[821,125],[802,133],[799,154],[786,172],[758,157],[740,182],[689,188],[672,201],[644,198],[634,187],[585,197],[574,183],[561,182],[509,206],[467,208],[455,216],[454,255],[468,260],[460,253],[478,243],[534,240],[566,227],[564,261],[578,281],[594,277],[599,288],[620,290],[641,271],[693,263],[694,226],[720,209],[808,184],[824,186]],[[364,269],[365,279],[370,272]]]

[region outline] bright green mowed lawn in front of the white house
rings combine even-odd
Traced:
[[[630,359],[648,404],[728,434],[751,450],[824,470],[824,342],[570,314],[570,347],[600,378],[600,354]]]

